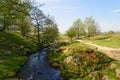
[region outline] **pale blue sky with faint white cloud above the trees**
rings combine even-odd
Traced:
[[[59,31],[65,33],[77,19],[93,17],[102,32],[120,31],[120,0],[36,0],[41,10],[54,17]]]

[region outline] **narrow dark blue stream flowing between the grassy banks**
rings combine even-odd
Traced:
[[[47,60],[48,48],[29,57],[28,62],[18,73],[22,80],[61,80],[60,70],[52,68]]]

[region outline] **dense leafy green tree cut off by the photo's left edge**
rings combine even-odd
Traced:
[[[10,1],[1,0],[0,1],[0,22],[1,30],[4,31],[12,22],[13,9],[11,8]]]

